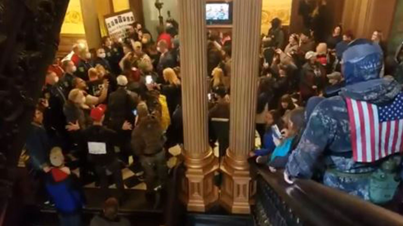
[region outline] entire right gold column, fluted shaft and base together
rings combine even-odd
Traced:
[[[221,166],[220,197],[232,213],[250,212],[247,156],[255,146],[261,14],[262,0],[234,0],[230,145]]]

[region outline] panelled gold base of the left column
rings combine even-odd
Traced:
[[[219,168],[218,159],[210,153],[200,159],[185,157],[187,167],[181,182],[181,200],[187,211],[206,212],[210,205],[218,201],[218,187],[214,185],[214,172]]]

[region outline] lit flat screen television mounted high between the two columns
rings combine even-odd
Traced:
[[[232,2],[206,3],[206,20],[208,25],[232,24]]]

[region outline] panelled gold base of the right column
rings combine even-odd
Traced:
[[[247,160],[234,160],[227,156],[222,160],[222,186],[220,204],[233,214],[250,214],[251,177]]]

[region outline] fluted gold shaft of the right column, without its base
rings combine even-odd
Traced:
[[[262,0],[234,0],[229,156],[245,160],[255,145]]]

